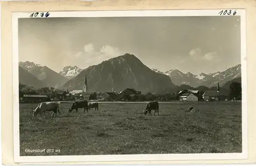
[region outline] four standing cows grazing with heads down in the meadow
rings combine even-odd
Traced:
[[[45,117],[45,112],[51,112],[52,113],[52,117],[55,117],[57,112],[60,113],[59,111],[59,104],[60,102],[42,102],[39,103],[38,106],[33,110],[33,117],[37,116],[38,114],[41,115],[41,117]],[[78,108],[83,108],[83,113],[89,112],[90,108],[95,108],[95,110],[99,109],[99,104],[98,102],[91,102],[89,103],[88,101],[84,100],[84,101],[75,101],[72,104],[72,107],[69,109],[68,113],[71,113],[73,110],[76,110],[76,112],[78,112]],[[148,114],[151,115],[151,111],[154,110],[154,115],[157,112],[157,114],[159,115],[159,103],[157,101],[153,101],[153,102],[148,102],[146,104],[146,108],[143,109],[143,113],[144,115]],[[44,116],[42,116],[44,115]]]

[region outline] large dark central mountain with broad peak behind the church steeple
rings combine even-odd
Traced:
[[[145,66],[136,56],[124,54],[98,65],[90,66],[75,78],[69,80],[62,88],[82,89],[87,76],[88,91],[122,91],[134,88],[144,92],[158,92],[165,87],[174,87],[168,76],[158,74]]]

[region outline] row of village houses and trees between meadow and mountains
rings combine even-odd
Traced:
[[[105,91],[105,92],[87,92],[83,90],[57,90],[54,88],[41,88],[29,91],[19,91],[20,102],[47,102],[47,101],[102,101],[102,102],[142,102],[142,101],[218,101],[220,100],[217,90],[207,90],[200,92],[199,90],[184,89],[177,93],[157,94],[148,92],[142,94],[133,88],[126,88],[123,91]]]

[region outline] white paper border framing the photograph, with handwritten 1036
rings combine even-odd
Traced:
[[[77,161],[168,161],[168,160],[227,160],[248,158],[247,133],[247,55],[246,55],[246,15],[245,9],[207,10],[125,10],[125,11],[58,11],[49,12],[52,17],[148,17],[148,16],[220,16],[221,10],[236,10],[241,20],[241,75],[242,75],[242,153],[202,153],[202,154],[133,154],[133,155],[76,155],[76,156],[20,156],[19,146],[19,98],[18,98],[18,18],[29,18],[33,12],[12,13],[13,51],[13,129],[14,162],[77,162]],[[38,14],[39,15],[39,14]],[[221,15],[220,17],[230,17]],[[37,18],[48,19],[46,17]],[[31,18],[33,19],[33,18]]]

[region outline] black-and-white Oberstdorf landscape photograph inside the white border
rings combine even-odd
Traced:
[[[18,18],[20,156],[242,153],[241,16],[217,14]]]

